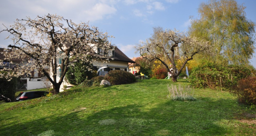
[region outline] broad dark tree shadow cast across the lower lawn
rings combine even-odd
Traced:
[[[232,107],[219,107],[231,100],[180,102],[155,105],[128,104],[108,110],[75,109],[65,115],[38,117],[24,123],[0,125],[0,135],[38,135],[53,130],[55,135],[234,135],[232,128],[217,124],[230,120]],[[93,112],[89,114],[89,112]],[[29,116],[29,115],[24,115]],[[108,119],[112,123],[108,124]],[[106,121],[101,125],[100,121]],[[37,131],[35,131],[37,130]]]

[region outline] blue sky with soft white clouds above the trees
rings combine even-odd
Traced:
[[[207,0],[1,0],[0,29],[15,19],[57,14],[76,23],[88,22],[115,38],[110,39],[128,57],[137,57],[133,47],[151,37],[153,27],[187,31],[190,19],[198,18],[198,7]],[[256,22],[256,1],[238,0],[247,19]],[[0,34],[0,47],[12,44]],[[256,68],[256,54],[251,64]]]

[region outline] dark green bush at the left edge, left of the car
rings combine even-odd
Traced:
[[[11,81],[0,78],[0,94],[6,98],[15,101],[17,78],[13,78]]]

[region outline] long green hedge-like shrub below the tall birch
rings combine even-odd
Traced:
[[[190,83],[196,88],[219,87],[230,89],[242,78],[249,77],[251,69],[243,65],[221,65],[206,62],[191,70]]]

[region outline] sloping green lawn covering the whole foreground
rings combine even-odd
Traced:
[[[178,83],[188,85],[186,80]],[[53,97],[0,105],[1,136],[255,135],[255,109],[229,92],[195,89],[196,101],[167,99],[170,80],[75,87]]]

